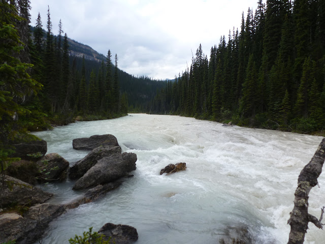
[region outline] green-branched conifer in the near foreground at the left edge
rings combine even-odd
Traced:
[[[14,149],[11,144],[25,134],[26,128],[19,116],[29,111],[22,103],[30,94],[36,94],[42,85],[27,73],[32,65],[22,63],[18,58],[23,43],[16,26],[22,18],[15,5],[1,1],[0,9],[0,171],[3,172],[8,155]]]

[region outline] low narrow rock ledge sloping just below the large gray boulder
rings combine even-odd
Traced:
[[[73,200],[71,203],[65,205],[67,209],[76,208],[81,204],[93,202],[105,196],[109,191],[118,188],[121,182],[111,182],[104,185],[98,185],[86,191],[81,197]]]

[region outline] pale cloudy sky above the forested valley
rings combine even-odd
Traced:
[[[240,28],[242,12],[255,10],[257,0],[31,0],[32,25],[40,12],[46,28],[47,6],[55,35],[61,19],[69,38],[117,53],[125,72],[173,79],[200,43],[209,56],[220,36]]]

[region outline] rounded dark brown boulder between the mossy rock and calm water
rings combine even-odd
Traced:
[[[47,154],[37,161],[41,171],[38,179],[40,181],[65,180],[69,169],[69,162],[58,154]]]

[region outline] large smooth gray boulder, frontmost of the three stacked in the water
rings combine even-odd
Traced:
[[[137,155],[134,153],[114,154],[100,159],[76,181],[74,190],[86,189],[112,182],[136,169]]]

